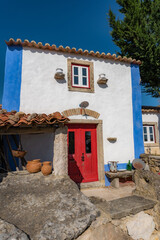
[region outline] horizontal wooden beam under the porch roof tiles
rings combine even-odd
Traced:
[[[36,134],[36,133],[53,133],[56,127],[10,127],[0,128],[0,135],[16,135],[16,134]]]

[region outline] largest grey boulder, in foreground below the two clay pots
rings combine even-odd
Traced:
[[[0,183],[0,196],[0,217],[33,240],[75,239],[98,216],[69,177],[12,174]]]

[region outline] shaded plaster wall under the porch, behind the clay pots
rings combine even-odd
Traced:
[[[21,135],[23,149],[27,151],[25,159],[41,159],[53,162],[54,133]]]

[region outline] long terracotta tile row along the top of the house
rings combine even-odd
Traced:
[[[127,62],[127,63],[134,63],[134,64],[141,64],[140,60],[132,59],[132,58],[127,58],[127,57],[121,57],[121,56],[116,56],[116,54],[111,55],[110,53],[105,54],[99,53],[99,52],[94,52],[94,51],[88,51],[88,50],[82,50],[81,48],[76,50],[76,48],[70,48],[70,47],[63,47],[60,45],[57,47],[55,44],[50,45],[49,43],[46,43],[43,45],[41,42],[36,43],[35,41],[29,42],[28,40],[24,40],[22,42],[21,39],[14,40],[13,38],[10,38],[9,41],[5,41],[8,46],[12,45],[21,45],[23,47],[34,47],[34,48],[41,48],[41,49],[48,49],[48,50],[54,50],[54,51],[60,51],[60,52],[66,52],[66,53],[75,53],[75,54],[80,54],[80,55],[89,55],[93,57],[98,57],[98,58],[108,58],[112,59],[114,61],[121,61],[121,62]]]

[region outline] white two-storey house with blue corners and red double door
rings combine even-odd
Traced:
[[[140,61],[28,40],[6,43],[3,109],[59,111],[70,119],[72,179],[103,184],[109,161],[124,169],[144,153]],[[52,160],[53,135],[23,135],[27,160]],[[107,179],[105,183],[109,185]]]

